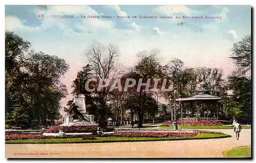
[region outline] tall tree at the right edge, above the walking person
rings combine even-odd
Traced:
[[[251,123],[251,35],[233,44],[230,58],[236,69],[228,77],[227,86],[232,94],[224,103],[226,116]]]

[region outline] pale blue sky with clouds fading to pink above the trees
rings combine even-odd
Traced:
[[[44,14],[45,18],[38,17]],[[51,18],[74,15],[74,18]],[[112,18],[80,18],[109,15]],[[114,16],[221,16],[221,19],[117,19]],[[49,16],[49,17],[48,17]],[[78,18],[77,18],[78,17]],[[183,25],[179,25],[180,23]],[[70,65],[62,82],[71,82],[87,64],[84,49],[98,41],[120,49],[119,63],[133,65],[140,50],[158,48],[162,64],[178,58],[186,67],[233,70],[232,44],[251,34],[250,6],[6,6],[6,30],[14,31],[43,51]],[[71,99],[68,96],[62,102]]]

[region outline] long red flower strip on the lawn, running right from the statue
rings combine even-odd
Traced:
[[[117,132],[117,133],[103,134],[103,135],[100,135],[99,137],[174,138],[174,137],[195,137],[196,135],[198,135],[198,131],[193,131],[193,132]]]

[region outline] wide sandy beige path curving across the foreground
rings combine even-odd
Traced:
[[[232,129],[211,129],[231,134],[230,138],[209,140],[125,142],[93,144],[6,144],[6,157],[52,158],[188,158],[223,157],[222,151],[251,145],[251,129],[240,139]]]

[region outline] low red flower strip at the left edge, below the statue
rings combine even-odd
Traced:
[[[6,134],[5,140],[39,140],[39,139],[57,139],[57,138],[81,138],[84,135],[63,135],[63,136],[46,136],[33,134]]]

